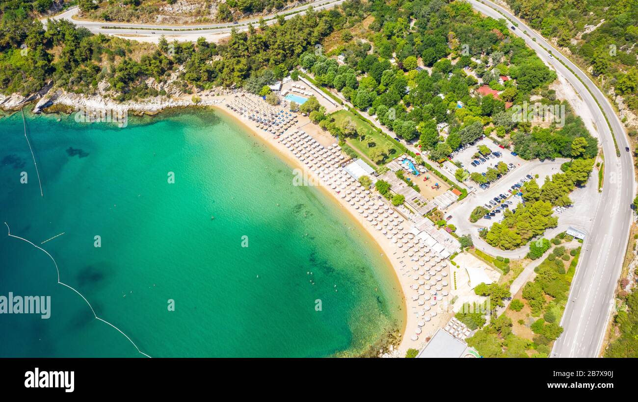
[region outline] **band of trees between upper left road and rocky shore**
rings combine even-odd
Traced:
[[[297,57],[319,43],[349,17],[336,11],[310,12],[277,24],[233,32],[221,45],[167,43],[157,47],[124,39],[93,35],[62,20],[46,29],[34,20],[30,3],[5,8],[0,25],[0,92],[33,93],[47,83],[78,93],[96,92],[106,80],[118,100],[165,95],[146,84],[148,78],[165,82],[178,66],[184,73],[178,85],[188,91],[213,86],[242,85],[265,76],[282,78]]]

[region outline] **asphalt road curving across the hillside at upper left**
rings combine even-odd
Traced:
[[[311,3],[304,4],[299,7],[291,8],[290,10],[285,10],[281,14],[292,13],[293,11],[299,11],[297,13],[291,15],[285,15],[285,19],[289,20],[290,18],[295,17],[296,15],[304,15],[306,13],[306,9],[309,6],[313,6],[315,11],[326,10],[332,8],[334,6],[338,6],[343,3],[345,0],[316,0]],[[73,24],[78,27],[85,27],[89,31],[94,34],[110,34],[110,35],[137,35],[137,36],[145,36],[147,38],[154,38],[162,36],[162,35],[170,35],[170,36],[182,36],[184,38],[192,39],[192,41],[196,41],[198,35],[203,34],[225,34],[232,29],[237,31],[248,31],[248,23],[259,24],[260,18],[249,18],[247,20],[241,20],[238,24],[232,23],[222,23],[222,24],[204,24],[204,25],[153,25],[153,24],[126,24],[121,22],[103,22],[103,21],[86,21],[86,20],[78,20],[75,19],[75,15],[78,13],[77,6],[71,7],[69,10],[60,13],[52,19],[61,20],[66,19],[73,22]],[[263,16],[264,20],[268,18],[276,17],[277,13],[271,15]],[[46,19],[42,20],[43,23],[46,23]],[[277,18],[273,18],[266,21],[266,24],[271,25],[277,22]],[[105,27],[119,27],[118,28],[105,28]],[[136,30],[137,28],[137,30]]]

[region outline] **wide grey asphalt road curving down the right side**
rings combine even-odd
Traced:
[[[493,18],[504,18],[503,15],[505,15],[510,21],[516,22],[516,29],[512,32],[523,38],[541,59],[551,64],[574,86],[591,111],[591,118],[600,134],[605,155],[602,197],[597,209],[591,212],[593,229],[583,243],[580,264],[561,320],[564,331],[554,343],[551,354],[551,357],[597,357],[602,348],[605,329],[612,311],[614,289],[622,269],[630,222],[633,218],[630,205],[635,193],[634,167],[630,152],[625,151],[625,147],[629,147],[625,130],[607,97],[581,69],[557,50],[553,50],[554,58],[549,57],[545,49],[551,50],[553,47],[542,36],[507,10],[490,1],[468,0],[468,2],[480,13]],[[535,38],[535,41],[531,38]],[[574,73],[557,59],[563,61]],[[596,100],[602,106],[604,114]],[[609,118],[618,141],[620,157],[616,156],[616,148],[609,126],[605,122],[605,115]]]

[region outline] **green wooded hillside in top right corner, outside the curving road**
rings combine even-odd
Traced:
[[[507,0],[545,38],[556,38],[638,111],[638,0]],[[602,22],[604,20],[604,22]]]

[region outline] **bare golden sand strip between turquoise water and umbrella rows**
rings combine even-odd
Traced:
[[[246,97],[246,99],[263,102],[260,97],[252,96],[249,94],[245,94],[244,96]],[[232,97],[232,95],[226,96],[225,103],[228,103],[228,101],[232,101]],[[266,105],[265,102],[263,102],[263,104]],[[332,196],[332,199],[336,201],[337,205],[339,205],[339,207],[343,210],[346,210],[348,213],[350,213],[352,218],[359,223],[359,227],[353,227],[353,230],[364,229],[369,234],[369,236],[371,236],[371,238],[376,242],[376,245],[378,246],[380,255],[385,257],[390,263],[390,266],[392,266],[392,268],[394,269],[397,283],[401,287],[401,289],[398,290],[401,291],[405,305],[405,327],[403,329],[401,343],[398,347],[398,350],[394,350],[394,352],[392,353],[392,357],[404,357],[409,348],[415,348],[417,350],[422,349],[427,343],[426,338],[433,336],[436,332],[436,329],[438,329],[439,327],[445,326],[448,320],[452,317],[452,313],[447,312],[447,309],[443,308],[443,306],[433,306],[432,311],[436,310],[438,314],[436,315],[436,317],[432,317],[429,322],[424,322],[423,317],[419,314],[419,310],[422,310],[423,306],[419,306],[418,301],[413,301],[412,298],[406,298],[406,295],[412,295],[415,293],[415,290],[412,288],[412,286],[415,285],[415,280],[413,280],[412,277],[412,275],[414,274],[412,269],[410,269],[410,267],[408,266],[408,264],[411,264],[410,257],[408,257],[408,255],[404,253],[401,248],[397,247],[396,243],[392,243],[392,241],[388,239],[385,234],[382,234],[382,231],[375,229],[371,222],[368,222],[362,216],[362,214],[359,213],[357,209],[355,209],[355,206],[350,205],[344,198],[339,196],[336,190],[330,189],[330,187],[326,185],[318,185],[317,183],[322,183],[322,180],[319,178],[319,176],[316,175],[315,172],[311,171],[311,169],[306,168],[306,166],[304,166],[304,164],[297,157],[295,157],[292,150],[288,149],[286,145],[281,142],[281,139],[283,139],[289,133],[293,133],[295,130],[299,129],[298,127],[302,127],[301,130],[308,133],[320,144],[324,146],[330,145],[326,144],[325,134],[317,135],[316,131],[321,131],[321,129],[313,124],[308,117],[297,114],[295,115],[295,117],[299,119],[299,122],[293,127],[290,127],[290,129],[286,130],[281,138],[275,138],[272,133],[268,133],[267,131],[258,128],[255,121],[250,120],[245,116],[239,115],[239,113],[226,108],[225,106],[223,106],[223,104],[215,104],[214,107],[222,111],[226,115],[235,118],[235,120],[240,122],[242,126],[248,128],[249,131],[256,134],[258,138],[260,138],[264,143],[269,145],[274,151],[281,155],[281,157],[285,161],[287,161],[293,168],[302,169],[304,171],[304,177],[306,177],[305,175],[308,175],[310,183],[315,183],[315,185],[321,187],[321,190],[324,191],[326,194],[330,194],[330,196]],[[282,105],[279,105],[278,108],[284,109]],[[332,138],[332,143],[336,143],[336,140],[334,138]],[[343,154],[343,152],[341,154]],[[373,192],[371,194],[371,197],[372,196],[374,196],[375,202],[380,201],[376,199],[378,193]],[[389,201],[387,201],[386,199],[382,200],[386,205],[390,206],[390,211],[394,210]],[[410,222],[404,222],[403,226],[406,227],[406,229],[409,229]],[[415,263],[412,262],[412,264]],[[444,268],[444,271],[447,271],[447,273],[449,274],[449,269],[450,267],[447,266]],[[452,295],[448,297],[451,298]],[[419,324],[424,325],[419,326]],[[412,340],[412,336],[415,334],[415,331],[417,331],[418,327],[421,327],[422,333],[419,335],[418,340]]]

